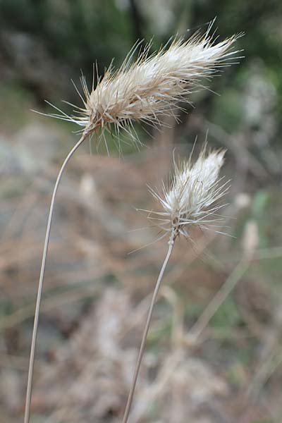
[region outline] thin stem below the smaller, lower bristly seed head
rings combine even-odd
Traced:
[[[156,304],[157,295],[159,293],[159,287],[161,286],[161,281],[162,281],[162,278],[164,276],[164,271],[166,270],[166,265],[168,264],[168,260],[171,257],[171,252],[173,250],[173,244],[174,244],[174,240],[173,239],[169,240],[169,242],[168,242],[168,252],[166,253],[166,258],[164,259],[164,263],[161,266],[161,271],[159,272],[159,277],[158,277],[156,286],[154,287],[154,293],[153,293],[151,304],[150,304],[150,307],[149,307],[147,321],[146,321],[146,324],[145,324],[145,329],[143,331],[142,342],[141,342],[141,345],[140,345],[140,350],[139,350],[137,363],[136,363],[136,367],[135,367],[135,372],[134,372],[134,376],[133,376],[133,383],[132,383],[131,388],[130,388],[128,400],[127,400],[126,407],[125,407],[125,412],[124,412],[124,415],[123,415],[123,423],[128,422],[128,416],[129,416],[131,404],[133,402],[133,395],[134,395],[134,391],[135,391],[137,377],[138,377],[139,370],[140,370],[140,364],[142,362],[142,357],[143,357],[144,350],[145,350],[145,344],[146,344],[146,341],[147,341],[149,326],[150,326],[151,321],[152,321],[152,314],[153,314],[154,305]]]

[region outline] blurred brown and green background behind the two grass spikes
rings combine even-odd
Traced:
[[[37,340],[32,422],[120,422],[166,241],[135,207],[156,207],[173,149],[197,135],[228,149],[221,235],[178,240],[154,312],[130,422],[281,423],[282,4],[279,0],[0,0],[0,422],[21,422],[47,212],[92,83],[137,39],[238,32],[240,64],[193,94],[195,109],[146,147],[85,142],[57,197]],[[215,93],[214,93],[215,92]],[[231,236],[229,236],[231,235]],[[212,301],[212,302],[211,302]]]

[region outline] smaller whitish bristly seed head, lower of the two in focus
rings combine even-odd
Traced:
[[[223,150],[207,153],[206,147],[195,164],[188,161],[174,162],[173,176],[168,187],[163,183],[162,192],[150,192],[161,204],[161,211],[149,212],[148,218],[171,235],[182,234],[189,238],[189,227],[210,228],[221,220],[217,214],[223,204],[219,200],[228,188],[219,178],[223,165]]]

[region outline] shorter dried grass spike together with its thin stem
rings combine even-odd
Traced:
[[[226,183],[221,185],[219,171],[223,165],[224,151],[212,151],[206,154],[206,147],[200,153],[194,165],[191,165],[191,155],[188,161],[183,161],[179,165],[174,163],[174,174],[171,185],[166,188],[163,183],[163,192],[152,190],[152,195],[160,202],[161,212],[149,212],[148,218],[156,222],[156,226],[165,231],[164,235],[169,235],[168,251],[164,259],[157,283],[154,287],[151,304],[142,335],[140,350],[137,357],[133,382],[128,394],[128,400],[123,415],[123,423],[128,423],[130,407],[133,403],[133,395],[137,382],[137,377],[145,351],[145,344],[152,321],[154,305],[164,277],[164,271],[171,257],[173,246],[178,235],[182,234],[190,238],[187,227],[200,226],[205,228],[205,223],[218,221],[216,212],[222,207],[214,205],[217,200],[225,194]],[[145,212],[148,212],[145,210]],[[215,215],[215,219],[211,217]],[[163,238],[164,235],[161,237]]]

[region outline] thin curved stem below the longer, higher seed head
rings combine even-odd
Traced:
[[[53,216],[53,210],[54,210],[54,203],[56,198],[56,192],[59,187],[59,183],[61,180],[61,176],[63,174],[64,168],[66,167],[66,164],[68,163],[68,160],[71,159],[73,153],[78,149],[78,147],[82,144],[82,142],[85,140],[86,135],[83,134],[80,137],[80,140],[75,144],[75,146],[71,149],[71,151],[68,153],[66,159],[63,161],[63,164],[60,168],[59,174],[56,178],[56,183],[54,186],[52,198],[51,198],[51,204],[49,209],[49,217],[48,217],[48,223],[47,223],[47,230],[45,235],[45,241],[44,241],[44,250],[42,255],[42,263],[41,263],[41,269],[40,269],[40,276],[39,276],[39,283],[38,283],[38,290],[37,290],[37,300],[36,300],[36,306],[35,306],[35,320],[33,323],[33,330],[32,330],[32,341],[31,341],[31,347],[30,347],[30,364],[28,367],[28,375],[27,375],[27,391],[26,391],[26,398],[25,398],[25,419],[24,423],[30,422],[30,403],[31,403],[31,396],[32,396],[32,379],[33,379],[33,369],[35,366],[35,347],[36,347],[36,338],[37,338],[37,329],[38,329],[38,319],[39,319],[39,309],[40,309],[40,303],[41,303],[41,297],[42,297],[42,286],[44,281],[44,272],[45,272],[45,266],[46,266],[46,259],[47,259],[47,252],[48,252],[48,245],[49,245],[49,238],[50,238],[50,230],[51,230],[51,221]]]

